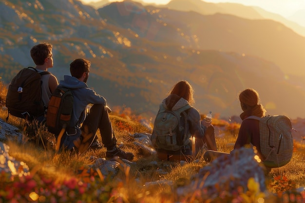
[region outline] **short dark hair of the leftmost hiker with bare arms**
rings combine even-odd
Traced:
[[[44,59],[52,57],[52,44],[47,42],[37,44],[32,47],[30,53],[31,57],[36,65],[43,65]]]

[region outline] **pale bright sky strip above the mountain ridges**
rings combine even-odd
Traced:
[[[83,2],[99,1],[99,0],[81,0]],[[121,0],[110,0],[121,1]],[[143,0],[148,3],[167,4],[170,0]],[[269,12],[289,17],[295,11],[305,9],[305,0],[204,0],[206,2],[232,2],[241,3],[248,6],[259,6]]]

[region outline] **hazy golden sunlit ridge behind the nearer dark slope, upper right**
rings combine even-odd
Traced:
[[[124,3],[119,2],[113,5],[121,6],[122,4]],[[100,8],[98,11],[103,15],[107,14],[108,18],[113,18],[111,15],[115,10],[112,11],[111,5]],[[156,9],[149,6],[147,8]],[[129,16],[115,16],[115,21],[124,22],[129,20],[129,24],[122,23],[121,26],[131,27],[135,32],[138,31],[135,30],[136,28],[143,30],[145,27],[145,29],[148,29],[152,24],[158,29],[153,33],[155,40],[165,36],[170,37],[166,40],[180,40],[180,43],[184,43],[184,46],[195,49],[215,49],[258,55],[275,62],[286,74],[297,72],[305,75],[303,69],[305,65],[303,55],[305,52],[305,37],[295,34],[291,29],[278,22],[249,20],[224,14],[203,16],[194,12],[181,12],[167,8],[159,8],[158,12],[153,14],[149,14],[149,12],[129,14]],[[166,16],[166,18],[163,18],[163,16]],[[135,19],[139,21],[138,24],[134,23]],[[171,24],[172,30],[155,21]],[[158,32],[160,32],[159,35]],[[171,34],[164,35],[164,32],[171,32]],[[196,37],[194,38],[194,36]],[[245,46],[245,44],[247,45]],[[290,66],[293,66],[294,69],[291,69]]]

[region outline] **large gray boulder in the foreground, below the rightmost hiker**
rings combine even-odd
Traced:
[[[177,197],[194,198],[195,194],[200,201],[220,197],[224,192],[246,193],[250,179],[254,180],[251,182],[254,186],[258,185],[257,192],[266,191],[265,166],[256,157],[253,148],[234,149],[230,154],[218,157],[201,168],[189,185],[177,187]]]

